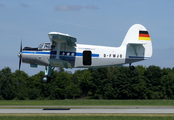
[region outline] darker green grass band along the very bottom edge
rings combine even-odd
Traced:
[[[172,120],[174,117],[145,116],[1,116],[0,120]]]

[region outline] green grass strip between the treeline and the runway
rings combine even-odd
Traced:
[[[0,105],[28,106],[174,106],[174,100],[0,100]]]

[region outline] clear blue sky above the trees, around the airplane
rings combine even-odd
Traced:
[[[152,40],[153,56],[134,65],[174,66],[174,1],[168,0],[4,0],[0,1],[0,70],[18,69],[23,47],[49,42],[48,33],[62,32],[77,43],[120,46],[127,30],[144,25]],[[44,70],[22,64],[29,75]]]

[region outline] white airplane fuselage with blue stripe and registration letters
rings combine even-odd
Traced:
[[[76,47],[61,45],[59,59],[67,61],[72,68],[90,68],[116,66],[132,63],[146,58],[126,57],[126,50],[122,47],[106,47],[95,45],[76,44]],[[29,63],[31,67],[37,65],[48,66],[49,59],[56,57],[57,51],[51,49],[24,48],[22,62]]]

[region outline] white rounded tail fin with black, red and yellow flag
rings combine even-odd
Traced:
[[[150,35],[140,24],[135,24],[128,30],[121,47],[126,48],[126,58],[148,59],[152,56]]]

